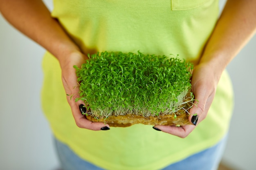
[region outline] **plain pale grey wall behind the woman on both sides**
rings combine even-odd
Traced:
[[[45,0],[52,9],[51,0]],[[225,0],[220,0],[220,7]],[[54,170],[52,134],[40,106],[44,49],[0,16],[0,169]],[[235,109],[223,163],[255,170],[256,36],[227,67]]]

